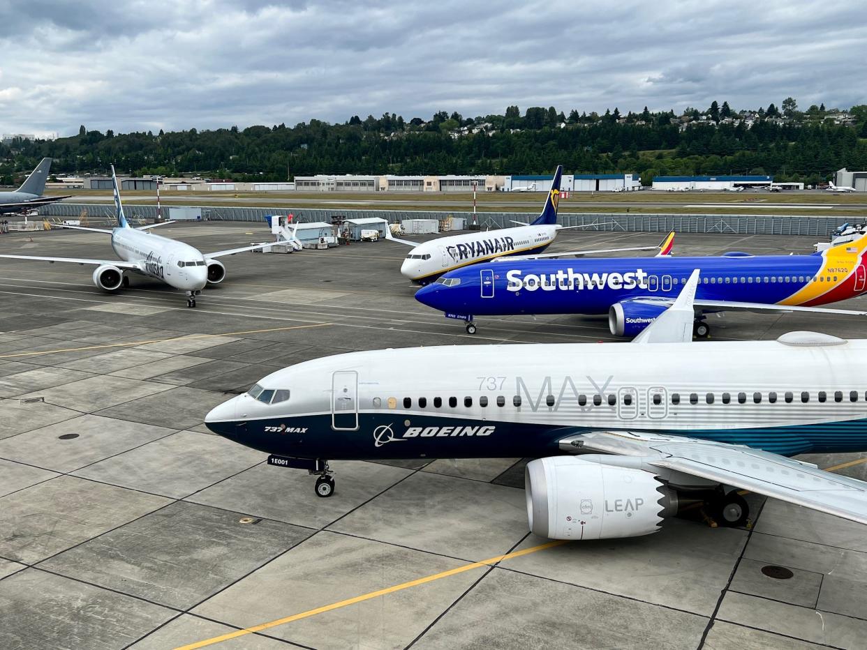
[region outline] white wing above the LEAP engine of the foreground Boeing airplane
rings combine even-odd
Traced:
[[[560,440],[564,451],[641,457],[642,468],[680,471],[790,504],[867,523],[867,483],[742,445],[633,432],[589,432]],[[599,462],[604,463],[604,459]]]

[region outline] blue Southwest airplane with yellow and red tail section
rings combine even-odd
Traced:
[[[419,289],[415,298],[466,321],[469,334],[476,332],[476,315],[608,314],[611,334],[636,336],[671,306],[690,273],[700,269],[694,335],[704,338],[710,334],[705,315],[727,310],[867,315],[817,307],[867,290],[865,252],[867,235],[812,255],[504,257],[450,271]]]

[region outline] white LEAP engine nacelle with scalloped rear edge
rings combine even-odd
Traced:
[[[676,494],[650,472],[572,456],[528,463],[525,497],[530,530],[550,539],[649,535],[677,510]]]

